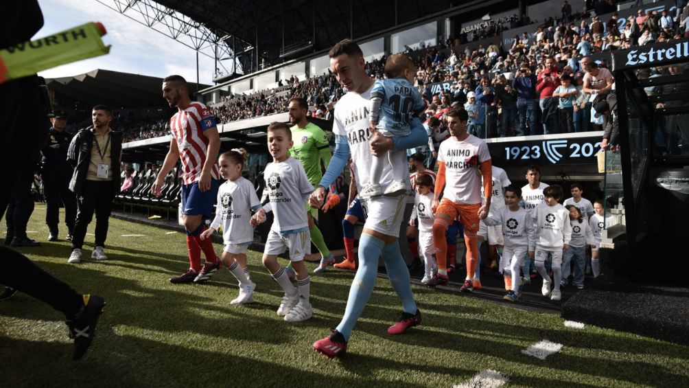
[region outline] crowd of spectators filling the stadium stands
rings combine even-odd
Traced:
[[[511,47],[491,44],[462,50],[461,43],[456,44],[458,39],[449,38],[438,46],[410,49],[418,64],[416,82],[428,106],[426,116],[439,116],[448,108],[463,106],[470,112],[472,133],[483,138],[602,130],[604,120],[595,118],[595,99],[613,90],[614,81],[605,61],[589,57],[683,37],[689,29],[689,6],[679,3],[672,15],[639,10],[620,30],[617,13],[608,20],[596,16],[614,11],[612,0],[587,1],[583,10],[575,12],[564,1],[559,16],[542,23],[513,17],[510,28],[533,23],[535,34],[515,36]],[[500,27],[486,26],[471,39],[499,32]],[[384,63],[385,57],[367,62],[367,73],[382,78]],[[657,76],[663,71],[653,69],[647,75]],[[675,67],[674,71],[683,72],[683,68]],[[443,87],[432,88],[436,83],[443,83]],[[345,92],[329,73],[302,81],[291,76],[284,84],[280,81],[275,90],[225,96],[213,109],[218,123],[228,123],[287,112],[289,99],[300,96],[315,107],[309,112],[311,116],[332,119],[333,104]],[[125,140],[131,141],[167,130],[164,123],[157,122],[126,132]]]

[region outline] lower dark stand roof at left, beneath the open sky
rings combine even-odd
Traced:
[[[163,79],[96,69],[75,76],[46,79],[48,89],[88,105],[104,104],[112,108],[169,108],[163,99]],[[210,85],[200,85],[209,88]],[[193,88],[192,88],[193,89]]]

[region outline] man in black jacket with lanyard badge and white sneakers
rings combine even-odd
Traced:
[[[96,212],[96,241],[91,258],[105,260],[105,238],[112,200],[120,189],[122,132],[110,129],[112,112],[105,105],[92,111],[93,127],[74,136],[67,159],[74,166],[70,190],[76,194],[76,222],[72,238],[72,254],[68,263],[81,261],[81,247],[86,228]]]

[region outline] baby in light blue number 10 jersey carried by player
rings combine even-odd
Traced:
[[[407,136],[411,132],[411,119],[424,111],[425,105],[421,95],[414,87],[416,67],[413,61],[404,54],[393,54],[385,62],[387,79],[376,81],[371,90],[369,119],[371,131],[378,131],[383,136]],[[373,158],[369,175],[369,184],[360,192],[360,196],[399,196],[407,192],[405,178],[409,175],[407,165],[395,165],[393,161],[406,161],[406,156],[398,158],[395,151],[389,150],[384,155]],[[391,166],[391,180],[382,181],[384,163]],[[400,164],[400,163],[397,163]],[[387,187],[386,187],[387,185]],[[386,187],[382,190],[382,187]]]

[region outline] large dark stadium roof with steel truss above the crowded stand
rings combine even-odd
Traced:
[[[326,50],[449,13],[504,0],[96,0],[216,61],[249,74],[284,59]],[[225,66],[223,60],[236,59]]]

